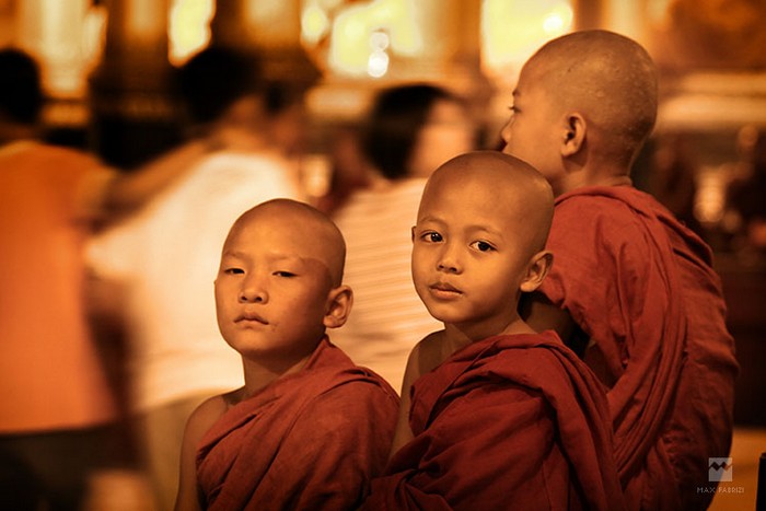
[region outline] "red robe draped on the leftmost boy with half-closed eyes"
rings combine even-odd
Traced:
[[[326,338],[298,373],[232,407],[206,433],[209,510],[353,509],[385,466],[398,396]]]

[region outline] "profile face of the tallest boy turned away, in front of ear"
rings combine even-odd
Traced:
[[[502,129],[506,141],[502,152],[530,163],[557,190],[557,182],[564,177],[560,127],[565,119],[539,86],[541,80],[529,65],[522,69],[513,91],[511,117]]]

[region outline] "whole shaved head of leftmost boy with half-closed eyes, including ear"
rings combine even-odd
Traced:
[[[216,279],[218,324],[247,362],[283,373],[304,361],[326,327],[343,325],[351,293],[340,286],[345,247],[305,205],[275,200],[233,225]]]

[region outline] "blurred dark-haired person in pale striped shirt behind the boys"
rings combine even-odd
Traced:
[[[475,147],[475,123],[460,96],[426,83],[382,90],[360,136],[368,174],[356,179],[367,185],[333,212],[346,237],[345,281],[355,300],[332,340],[397,391],[413,346],[440,328],[410,274],[420,195],[439,165]]]

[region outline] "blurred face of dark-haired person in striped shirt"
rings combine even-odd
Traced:
[[[409,174],[428,177],[442,163],[473,148],[473,123],[463,105],[454,101],[436,101],[428,123],[418,133]]]

